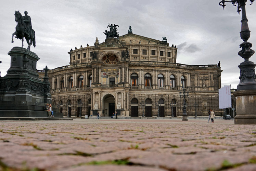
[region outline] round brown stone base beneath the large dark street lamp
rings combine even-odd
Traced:
[[[233,93],[236,101],[235,124],[256,124],[256,90]]]

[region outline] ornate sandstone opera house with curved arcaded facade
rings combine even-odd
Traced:
[[[82,116],[93,115],[97,102],[101,116],[112,116],[120,103],[121,116],[156,117],[159,107],[159,116],[171,117],[173,109],[178,117],[182,116],[179,92],[183,90],[189,92],[188,116],[194,116],[195,102],[197,116],[208,116],[209,108],[221,114],[221,68],[176,63],[177,48],[166,40],[128,32],[103,43],[96,38],[94,46],[71,49],[69,55],[70,65],[49,70],[52,101],[64,116],[77,117],[80,109]],[[38,73],[42,75],[43,70]]]

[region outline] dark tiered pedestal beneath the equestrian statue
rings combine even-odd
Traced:
[[[11,66],[0,78],[0,117],[47,117],[44,105],[52,102],[49,69],[44,68],[41,80],[36,69],[39,57],[34,52],[14,47],[8,54]]]

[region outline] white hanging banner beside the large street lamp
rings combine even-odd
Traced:
[[[219,89],[219,108],[229,108],[231,107],[231,93],[230,86],[224,86]]]

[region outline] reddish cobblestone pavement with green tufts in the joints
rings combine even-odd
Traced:
[[[256,170],[256,125],[231,120],[1,121],[3,171]]]

